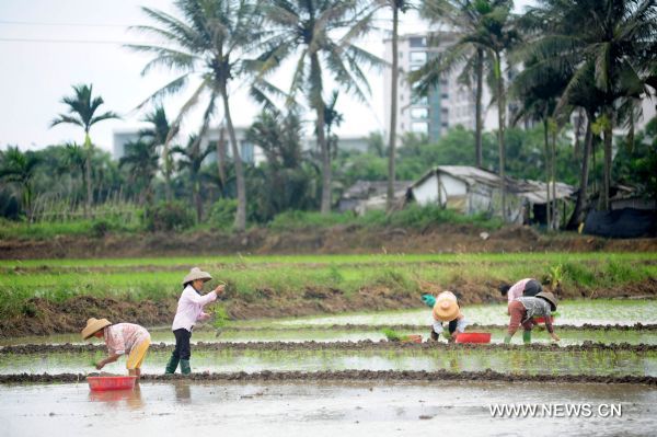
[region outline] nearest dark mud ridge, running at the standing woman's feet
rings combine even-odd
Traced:
[[[91,375],[90,375],[91,376]],[[23,383],[83,383],[85,375],[82,373],[58,373],[58,375],[0,375],[2,384]],[[589,383],[623,383],[623,384],[647,384],[657,386],[657,377],[639,376],[593,376],[593,375],[521,375],[502,373],[492,369],[484,371],[460,371],[448,370],[424,371],[424,370],[328,370],[328,371],[260,371],[254,373],[193,373],[181,375],[142,375],[143,381],[281,381],[281,382],[316,382],[316,381],[502,381],[502,382],[589,382]]]

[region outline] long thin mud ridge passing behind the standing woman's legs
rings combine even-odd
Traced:
[[[173,345],[164,343],[152,344],[150,350],[162,352],[173,350]],[[592,343],[584,342],[581,345],[560,346],[556,344],[531,344],[531,345],[506,345],[506,344],[449,344],[449,343],[401,343],[401,342],[372,342],[364,340],[359,342],[247,342],[247,343],[205,343],[199,342],[193,345],[194,350],[260,350],[260,352],[289,352],[289,350],[353,350],[353,352],[369,352],[369,350],[413,350],[413,352],[429,352],[429,350],[483,350],[483,352],[499,352],[499,350],[533,350],[533,352],[554,352],[554,353],[577,353],[577,352],[633,352],[633,353],[650,353],[657,352],[657,345],[629,343]],[[102,344],[62,344],[62,345],[15,345],[4,346],[0,348],[0,354],[51,354],[51,353],[91,353],[96,350],[105,350]]]

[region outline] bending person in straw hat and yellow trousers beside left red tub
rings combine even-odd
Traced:
[[[101,370],[105,365],[127,355],[126,368],[130,376],[141,375],[141,364],[150,346],[150,334],[146,327],[134,323],[112,324],[107,319],[89,319],[82,330],[82,338],[104,338],[110,356],[95,364]]]

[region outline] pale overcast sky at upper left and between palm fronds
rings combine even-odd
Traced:
[[[530,1],[516,1],[517,8]],[[145,42],[143,35],[128,30],[130,25],[152,24],[140,7],[173,12],[168,0],[0,0],[0,148],[18,145],[22,149],[37,149],[66,141],[82,142],[81,129],[58,125],[49,128],[57,114],[66,111],[60,103],[72,94],[72,84],[93,83],[94,95],[102,95],[101,111],[114,111],[120,120],[102,122],[91,130],[96,145],[112,149],[112,133],[141,126],[143,112],[135,111],[168,80],[169,71],[140,74],[150,56],[123,47],[126,43]],[[382,15],[387,19],[387,15]],[[426,28],[411,13],[402,16],[401,33]],[[379,25],[389,27],[388,21]],[[361,46],[377,56],[383,56],[383,33],[372,34]],[[289,85],[289,68],[277,77],[283,88]],[[367,135],[383,129],[382,73],[371,71],[372,97],[361,104],[341,96],[338,111],[345,122],[339,135]],[[184,95],[165,101],[170,117],[180,110]],[[243,92],[232,100],[233,123],[247,126],[258,108]],[[199,125],[199,116],[192,115],[185,130]]]

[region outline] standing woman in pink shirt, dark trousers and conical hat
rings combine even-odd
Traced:
[[[203,322],[210,318],[209,314],[203,311],[203,307],[217,300],[217,297],[223,292],[224,288],[223,285],[220,285],[207,295],[201,296],[200,291],[204,284],[210,279],[212,279],[210,274],[203,272],[198,267],[192,268],[183,279],[183,294],[178,299],[175,318],[171,326],[173,335],[175,335],[175,349],[173,349],[173,354],[171,354],[171,358],[166,364],[165,373],[175,373],[178,363],[183,375],[192,372],[192,367],[189,366],[192,330],[197,322]]]

